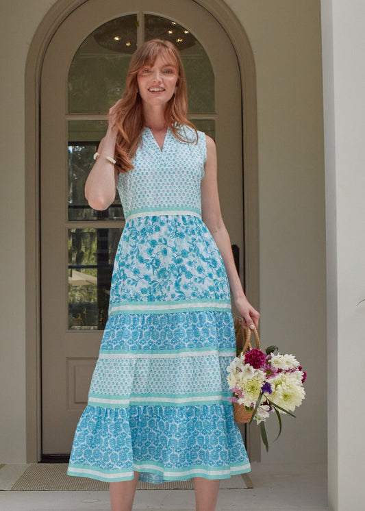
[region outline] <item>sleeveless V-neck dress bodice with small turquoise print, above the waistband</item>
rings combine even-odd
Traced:
[[[145,127],[134,169],[120,173],[117,189],[125,219],[148,214],[190,212],[201,216],[201,179],[207,157],[205,134],[181,127],[181,134],[192,143],[181,142],[168,128],[162,150],[151,129]]]

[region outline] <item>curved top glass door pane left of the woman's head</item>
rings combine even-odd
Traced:
[[[136,14],[115,18],[84,40],[68,73],[69,114],[106,114],[121,97],[137,25]]]

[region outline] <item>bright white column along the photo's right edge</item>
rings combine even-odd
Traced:
[[[323,0],[329,502],[364,509],[365,3]]]

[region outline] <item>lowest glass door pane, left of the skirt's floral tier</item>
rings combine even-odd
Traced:
[[[122,229],[68,229],[68,329],[103,329]]]

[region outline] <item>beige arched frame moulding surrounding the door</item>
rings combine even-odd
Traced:
[[[38,26],[25,67],[25,332],[27,462],[41,458],[40,399],[40,74],[49,41],[64,19],[88,0],[58,0]],[[169,0],[171,1],[171,0]],[[192,0],[197,1],[197,0]],[[244,28],[223,0],[198,0],[218,20],[236,51],[242,83],[243,186],[244,186],[244,289],[251,303],[260,307],[258,158],[256,77],[253,51]],[[127,11],[131,0],[121,1]],[[247,449],[251,460],[260,460],[260,438],[250,429]]]

